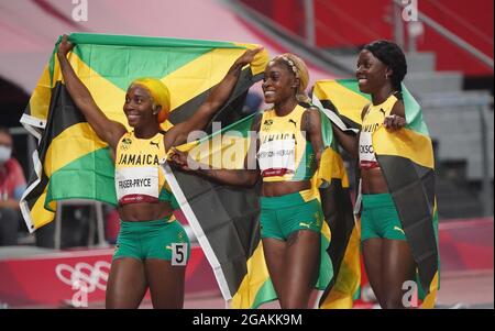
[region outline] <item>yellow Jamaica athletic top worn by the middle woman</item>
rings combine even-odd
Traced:
[[[315,152],[301,131],[305,111],[296,106],[285,117],[278,117],[275,109],[263,112],[257,152],[263,181],[307,180],[315,174]]]

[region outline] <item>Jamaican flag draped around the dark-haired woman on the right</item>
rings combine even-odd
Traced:
[[[433,148],[420,106],[404,85],[402,88],[407,125],[394,133],[378,129],[372,136],[373,148],[417,264],[421,307],[432,308],[439,289]],[[329,115],[340,128],[360,129],[361,112],[370,103],[370,96],[360,92],[356,80],[318,81],[315,96],[323,108],[333,112]],[[333,302],[332,290],[327,290],[321,305]]]

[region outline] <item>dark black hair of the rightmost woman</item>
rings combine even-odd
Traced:
[[[402,91],[400,82],[407,74],[406,56],[403,49],[389,41],[375,41],[363,47],[392,69],[392,86]]]

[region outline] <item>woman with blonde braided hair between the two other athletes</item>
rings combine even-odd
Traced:
[[[293,54],[276,56],[266,66],[263,91],[273,108],[253,121],[251,130],[258,134],[248,152],[256,154],[257,165],[250,167],[248,161],[253,158],[246,157],[244,169],[207,169],[186,153],[173,156],[184,170],[222,184],[254,186],[262,180],[263,252],[282,308],[308,308],[319,278],[324,219],[309,179],[323,141],[318,110],[306,108],[308,77],[305,63]]]

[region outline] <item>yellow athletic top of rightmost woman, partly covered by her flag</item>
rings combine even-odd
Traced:
[[[372,134],[383,124],[385,117],[391,115],[392,108],[397,100],[398,99],[392,95],[380,104],[373,106],[372,103],[369,106],[363,118],[360,133],[360,167],[362,169],[380,167],[373,150]]]

